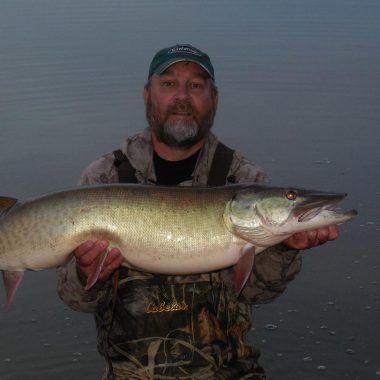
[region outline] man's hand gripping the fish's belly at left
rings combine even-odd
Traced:
[[[90,273],[95,271],[98,261],[108,248],[107,240],[88,240],[74,250],[74,256],[77,262],[79,273],[87,279]],[[105,281],[107,278],[122,264],[124,261],[120,250],[117,248],[111,249],[104,262],[103,268],[99,274],[98,281]]]

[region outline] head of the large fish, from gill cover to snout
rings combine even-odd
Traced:
[[[237,235],[268,247],[296,232],[350,220],[357,211],[336,207],[345,196],[299,188],[247,186],[231,200],[229,220]]]

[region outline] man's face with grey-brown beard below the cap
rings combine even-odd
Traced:
[[[158,141],[187,149],[211,128],[218,97],[211,78],[199,65],[177,62],[153,75],[144,89],[146,117]]]

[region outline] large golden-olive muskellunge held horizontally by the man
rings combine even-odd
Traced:
[[[25,270],[56,267],[90,239],[109,240],[120,248],[126,266],[151,273],[205,273],[236,264],[239,292],[255,254],[295,232],[355,216],[355,210],[334,209],[344,196],[257,184],[114,184],[27,202],[0,197],[0,269],[7,304]],[[90,276],[87,288],[96,280],[96,274]]]

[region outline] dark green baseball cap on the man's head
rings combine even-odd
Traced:
[[[182,61],[197,63],[206,70],[212,80],[215,80],[214,67],[210,57],[196,47],[187,44],[175,45],[158,51],[150,64],[148,79],[153,74],[161,74],[170,65]]]

